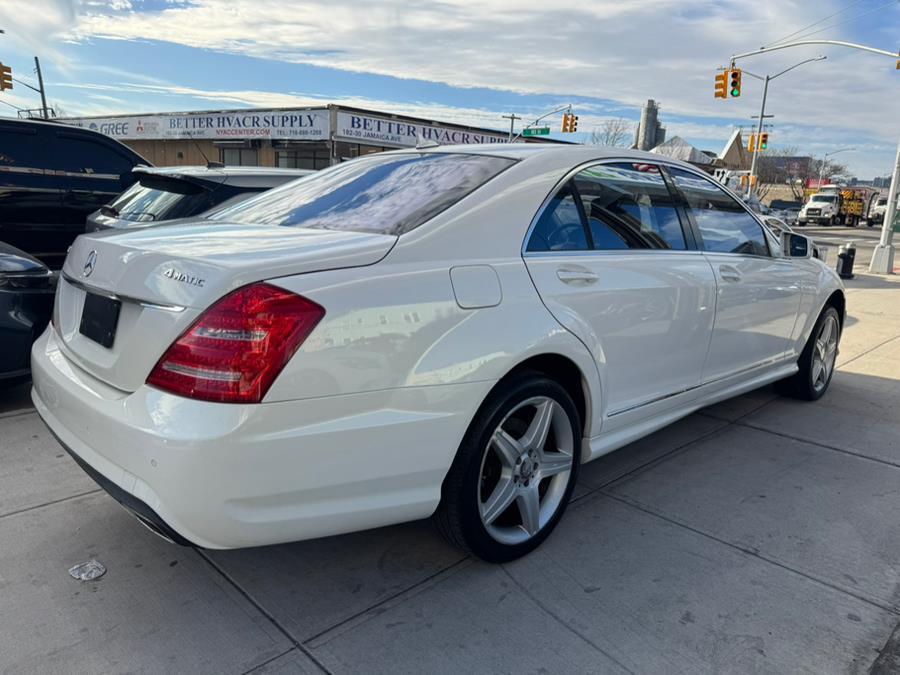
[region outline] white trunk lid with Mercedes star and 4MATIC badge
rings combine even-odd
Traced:
[[[278,277],[371,265],[396,241],[382,234],[210,221],[82,235],[63,266],[54,326],[75,363],[107,384],[134,391],[169,345],[230,291]],[[111,347],[80,330],[88,294],[120,303]],[[93,302],[91,311],[98,304],[102,314],[103,303]]]

